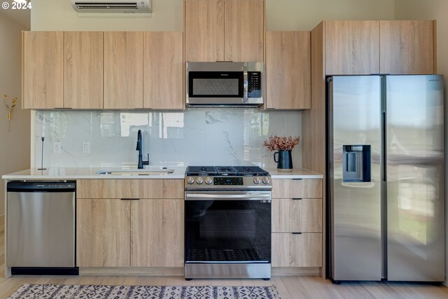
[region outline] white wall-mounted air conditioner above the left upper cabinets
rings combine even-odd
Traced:
[[[71,0],[71,6],[78,12],[78,15],[113,13],[151,16],[152,13],[151,0]]]

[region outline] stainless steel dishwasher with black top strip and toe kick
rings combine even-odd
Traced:
[[[78,274],[75,181],[10,181],[6,265],[11,274]]]

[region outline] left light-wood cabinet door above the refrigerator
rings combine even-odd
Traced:
[[[378,73],[378,21],[325,22],[325,74]]]

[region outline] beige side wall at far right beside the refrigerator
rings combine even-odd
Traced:
[[[395,0],[395,18],[397,20],[437,20],[437,73],[444,75],[445,120],[448,116],[448,1],[447,0]],[[448,122],[445,122],[445,157],[448,149]],[[448,167],[445,160],[445,169]],[[445,198],[448,194],[448,176],[445,174]],[[445,201],[446,202],[446,201]],[[448,219],[448,204],[445,203],[445,215]],[[448,221],[445,221],[446,238],[446,274],[448,284]]]

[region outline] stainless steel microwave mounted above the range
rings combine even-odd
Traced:
[[[187,106],[260,106],[263,62],[187,62]]]

